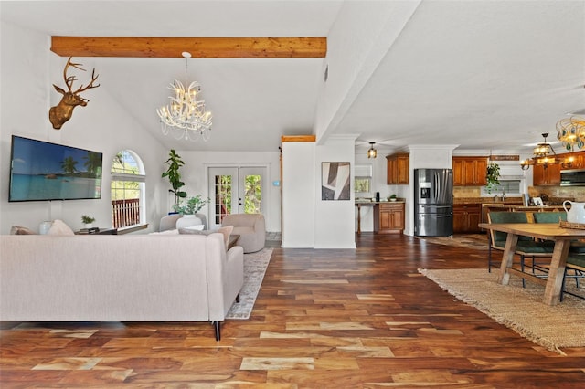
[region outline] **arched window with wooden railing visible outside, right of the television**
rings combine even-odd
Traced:
[[[118,152],[112,161],[112,226],[128,228],[145,224],[144,165],[130,150]]]

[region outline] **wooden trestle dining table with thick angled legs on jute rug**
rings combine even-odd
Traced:
[[[546,282],[544,302],[548,305],[558,304],[563,287],[563,279],[565,277],[565,265],[567,263],[567,256],[569,255],[570,243],[576,239],[584,239],[585,229],[566,228],[560,226],[558,223],[480,223],[478,226],[484,229],[507,233],[504,254],[502,255],[502,264],[497,277],[499,283],[507,285],[510,274],[512,273],[523,278],[536,280],[537,282]],[[546,280],[512,268],[516,244],[520,236],[554,242],[554,249],[548,269],[548,278]]]

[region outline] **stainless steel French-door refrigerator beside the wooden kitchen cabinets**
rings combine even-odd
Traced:
[[[415,169],[414,235],[417,237],[449,237],[452,234],[452,170]]]

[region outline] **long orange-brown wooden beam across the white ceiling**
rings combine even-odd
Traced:
[[[62,57],[324,58],[326,37],[51,37]]]

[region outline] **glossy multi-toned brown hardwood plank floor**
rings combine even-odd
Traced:
[[[585,387],[585,349],[548,352],[417,271],[485,268],[486,250],[357,239],[275,248],[220,342],[207,323],[2,323],[0,386]]]

